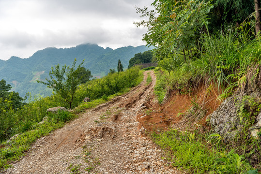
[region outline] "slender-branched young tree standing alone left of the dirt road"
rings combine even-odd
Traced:
[[[71,66],[64,65],[60,69],[60,65],[56,65],[51,68],[49,72],[50,79],[46,78],[46,82],[37,80],[38,83],[47,85],[47,87],[52,88],[54,92],[61,96],[70,105],[72,109],[72,102],[74,100],[74,94],[76,92],[77,86],[81,84],[81,78],[78,78],[80,70],[82,68],[84,60],[79,64],[77,69],[76,58]]]

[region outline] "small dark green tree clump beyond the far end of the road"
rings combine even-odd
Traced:
[[[152,58],[153,58],[152,51],[145,51],[142,54],[141,53],[135,54],[134,57],[129,60],[128,68],[133,67],[134,64],[150,63],[152,62]]]

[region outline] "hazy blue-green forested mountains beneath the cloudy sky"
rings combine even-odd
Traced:
[[[146,46],[127,46],[111,49],[98,46],[97,44],[81,44],[72,48],[46,48],[34,53],[30,58],[11,57],[9,60],[0,60],[0,79],[12,85],[12,90],[25,96],[27,92],[48,96],[51,90],[45,85],[38,84],[36,80],[44,80],[48,77],[51,66],[57,64],[70,65],[74,58],[77,62],[85,59],[83,66],[92,72],[93,77],[101,77],[108,73],[109,69],[117,69],[120,58],[123,67],[127,68],[128,61],[139,52],[149,50]]]

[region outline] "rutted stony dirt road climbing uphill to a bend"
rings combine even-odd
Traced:
[[[38,139],[4,174],[178,174],[138,129],[136,116],[152,100],[154,85],[153,71],[144,72],[138,87]]]

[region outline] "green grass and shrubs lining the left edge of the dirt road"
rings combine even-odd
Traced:
[[[71,70],[74,70],[72,68],[67,69],[68,74],[70,74]],[[138,85],[141,81],[142,73],[139,72],[138,67],[121,73],[108,74],[100,79],[94,79],[77,86],[75,99],[71,103],[71,107],[76,107],[74,110],[75,114],[82,112],[87,108],[95,107],[129,91],[130,87]],[[9,86],[5,85],[4,87]],[[12,93],[14,92],[10,92],[10,94]],[[85,97],[90,97],[91,102],[82,103]],[[11,106],[4,113],[0,113],[0,121],[4,123],[0,125],[0,169],[8,168],[10,167],[9,162],[19,160],[37,138],[61,128],[66,122],[77,117],[75,114],[67,111],[46,113],[46,110],[51,107],[70,107],[69,103],[64,102],[59,92],[46,98],[35,97],[33,100],[29,99],[29,101],[29,103],[17,109],[13,109]],[[1,104],[12,105],[12,102],[9,100],[4,100],[4,102]],[[15,136],[10,141],[7,141],[13,135]],[[72,172],[77,172],[77,168],[72,166],[71,169],[75,169]]]

